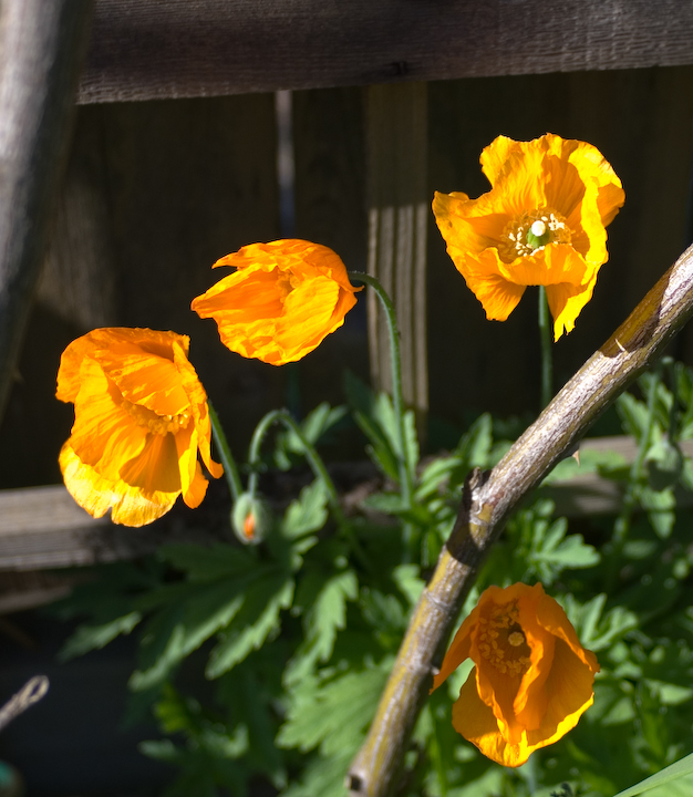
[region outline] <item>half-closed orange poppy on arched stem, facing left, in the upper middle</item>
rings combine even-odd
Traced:
[[[344,323],[361,290],[332,249],[304,240],[250,244],[219,266],[237,270],[194,299],[193,310],[214,318],[228,349],[271,365],[316,349]]]

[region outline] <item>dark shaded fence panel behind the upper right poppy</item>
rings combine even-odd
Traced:
[[[608,229],[609,261],[576,329],[555,346],[557,386],[600,346],[690,244],[693,69],[489,77],[432,83],[430,188],[488,189],[478,157],[497,135],[547,131],[594,144],[623,182],[625,205]],[[433,221],[432,221],[433,226]],[[500,414],[538,407],[536,289],[490,322],[432,228],[428,244],[432,413]],[[690,362],[691,331],[678,351]]]

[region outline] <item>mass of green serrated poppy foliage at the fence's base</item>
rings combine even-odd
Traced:
[[[401,451],[391,400],[353,375],[345,387],[382,475],[346,519],[331,515],[329,486],[317,478],[292,500],[275,501],[255,547],[165,546],[138,563],[99,568],[96,580],[55,607],[61,617],[85,618],[64,658],[138,633],[133,712],[145,707],[158,722],[162,737],[142,751],[176,773],[167,797],[244,797],[258,777],[282,797],[345,797],[344,773],[453,528],[464,479],[507,451],[505,432],[521,431],[482,415],[451,451],[420,462],[413,414]],[[681,504],[693,491],[693,465],[682,454],[693,438],[693,374],[665,363],[637,390],[618,402],[624,433],[639,446],[635,463],[585,452],[545,482],[599,474],[622,491],[620,514],[557,518],[540,488],[508,520],[463,610],[488,584],[540,581],[599,658],[593,706],[560,742],[504,769],[452,727],[452,702],[470,669],[463,665],[425,705],[401,797],[678,797],[693,789],[693,522]],[[322,445],[344,413],[322,404],[301,432]],[[401,457],[415,474],[408,503]],[[266,464],[302,462],[298,436],[277,434]],[[201,694],[184,693],[190,670],[211,684]]]

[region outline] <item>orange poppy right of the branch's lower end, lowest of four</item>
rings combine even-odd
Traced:
[[[541,584],[489,587],[462,623],[433,690],[465,659],[476,664],[453,706],[453,726],[492,760],[524,764],[592,705],[597,656]]]

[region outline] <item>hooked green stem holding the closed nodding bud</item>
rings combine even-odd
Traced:
[[[349,539],[355,555],[361,560],[361,563],[368,570],[371,570],[371,562],[366,557],[365,551],[361,548],[361,544],[359,542],[358,538],[353,534],[353,529],[344,517],[337,488],[334,487],[334,483],[332,482],[332,478],[330,477],[330,474],[328,473],[328,469],[322,462],[322,457],[320,456],[320,454],[318,454],[316,447],[307,439],[306,435],[301,431],[301,427],[296,423],[296,421],[291,417],[291,414],[287,410],[272,410],[271,412],[267,413],[267,415],[256,426],[256,429],[252,434],[252,439],[250,441],[250,452],[248,454],[248,465],[250,466],[248,491],[250,493],[250,496],[255,497],[258,486],[258,464],[260,460],[260,448],[262,446],[262,441],[265,439],[265,436],[267,435],[270,426],[275,423],[283,424],[283,426],[291,429],[293,434],[296,434],[296,436],[301,441],[306,458],[308,459],[308,463],[313,474],[316,475],[316,478],[319,478],[324,484],[325,489],[328,490],[328,503],[330,505],[330,509],[332,510],[332,515],[334,516],[334,520],[337,521],[339,530]]]

